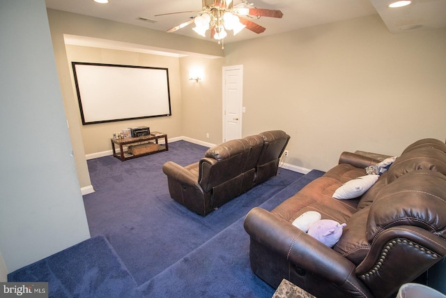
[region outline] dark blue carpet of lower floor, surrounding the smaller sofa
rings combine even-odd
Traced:
[[[89,161],[96,192],[84,196],[92,236],[103,234],[138,284],[145,283],[201,246],[238,218],[302,177],[279,169],[276,177],[199,216],[172,200],[162,165],[199,161],[208,148],[190,142],[169,151],[121,162],[113,156]]]

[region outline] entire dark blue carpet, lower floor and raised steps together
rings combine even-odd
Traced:
[[[96,190],[84,196],[92,238],[9,281],[49,281],[49,297],[271,297],[274,290],[249,267],[245,214],[274,208],[323,172],[279,169],[203,217],[170,198],[162,165],[199,161],[206,149],[180,141],[130,161],[88,161]]]

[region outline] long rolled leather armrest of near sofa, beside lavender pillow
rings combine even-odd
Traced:
[[[358,282],[352,262],[265,209],[249,211],[244,227],[252,239],[304,271],[339,286]]]

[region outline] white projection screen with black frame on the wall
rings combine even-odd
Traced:
[[[167,68],[72,62],[82,124],[171,116]]]

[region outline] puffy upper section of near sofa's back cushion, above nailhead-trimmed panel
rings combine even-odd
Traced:
[[[415,225],[446,238],[446,176],[414,170],[384,186],[371,204],[367,240],[396,225]]]

